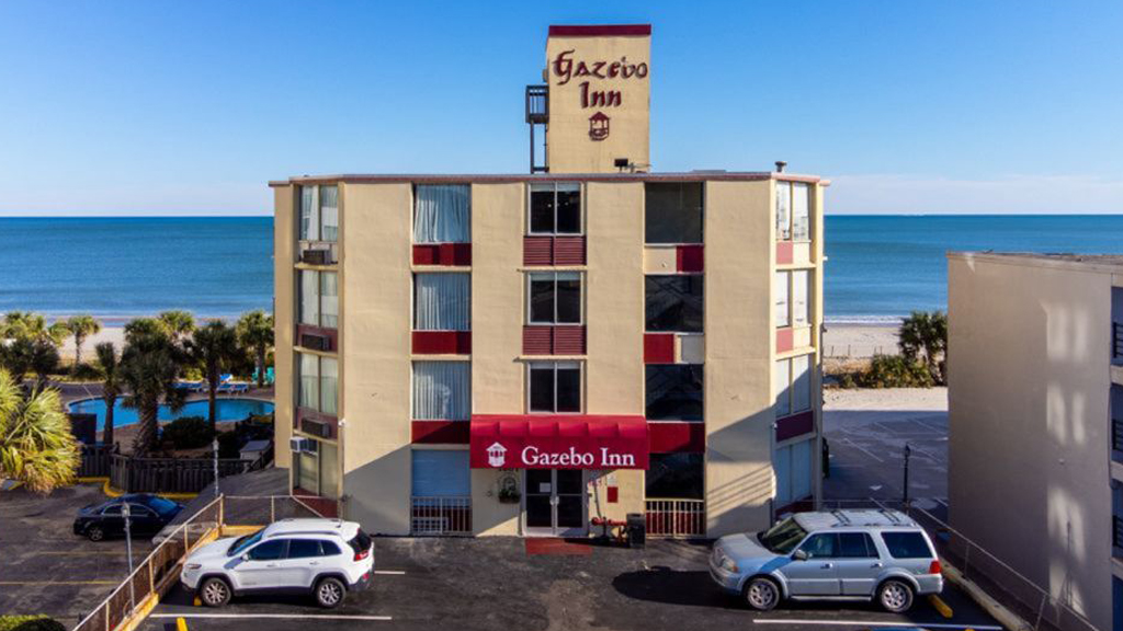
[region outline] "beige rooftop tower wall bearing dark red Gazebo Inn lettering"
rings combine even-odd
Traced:
[[[577,62],[604,61],[606,64],[627,60],[628,64],[646,63],[648,75],[639,79],[599,79],[573,76],[567,83],[554,73],[559,53],[573,49],[574,71]],[[547,158],[551,173],[611,173],[614,158],[627,157],[639,167],[650,166],[650,36],[550,37],[546,44],[546,67],[549,83],[550,122],[547,129]],[[603,72],[608,72],[608,65]],[[588,81],[590,91],[620,92],[619,107],[582,107],[581,83]],[[588,118],[594,112],[610,118],[610,134],[603,140],[590,138]]]

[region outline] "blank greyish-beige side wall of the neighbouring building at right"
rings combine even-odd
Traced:
[[[951,525],[1103,629],[1110,287],[1105,273],[949,256]]]

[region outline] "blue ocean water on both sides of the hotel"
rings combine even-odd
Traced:
[[[827,319],[946,309],[949,250],[1123,254],[1123,216],[829,216]],[[0,311],[165,309],[230,318],[273,302],[273,219],[0,218]]]

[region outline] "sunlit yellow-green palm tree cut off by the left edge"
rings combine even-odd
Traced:
[[[0,371],[0,479],[16,479],[38,493],[72,484],[82,454],[54,390],[25,399]]]

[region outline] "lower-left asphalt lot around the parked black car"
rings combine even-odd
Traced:
[[[124,539],[93,543],[71,530],[79,509],[103,501],[100,484],[0,494],[0,613],[42,613],[70,627],[125,579]],[[136,563],[150,550],[134,540]]]

